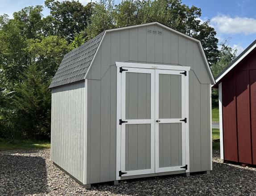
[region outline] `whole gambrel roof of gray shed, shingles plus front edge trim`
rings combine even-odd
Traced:
[[[62,86],[65,84],[69,84],[72,82],[77,82],[77,81],[85,79],[86,73],[87,73],[88,69],[90,69],[90,65],[92,64],[93,59],[97,53],[97,50],[100,47],[100,45],[104,39],[104,36],[107,32],[118,31],[118,30],[122,30],[122,29],[143,27],[143,26],[147,26],[150,24],[158,24],[162,28],[168,29],[169,31],[171,31],[173,33],[177,33],[178,35],[180,35],[182,37],[185,37],[187,39],[197,42],[199,44],[199,49],[203,56],[204,63],[206,65],[207,72],[211,76],[211,82],[213,84],[215,84],[215,79],[213,77],[211,68],[206,59],[204,50],[202,48],[202,44],[199,40],[197,40],[193,37],[190,37],[188,35],[185,35],[183,33],[180,33],[174,29],[171,29],[159,22],[152,22],[152,23],[147,23],[147,24],[139,24],[139,25],[134,25],[134,26],[106,30],[106,31],[100,33],[99,35],[97,35],[96,37],[94,37],[93,39],[87,41],[83,45],[79,46],[78,48],[70,51],[70,53],[67,53],[63,57],[62,62],[60,64],[56,74],[54,75],[54,78],[53,78],[49,88]]]

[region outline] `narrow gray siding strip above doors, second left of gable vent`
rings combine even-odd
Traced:
[[[138,28],[129,29],[129,60],[138,61]]]

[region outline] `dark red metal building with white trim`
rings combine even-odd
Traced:
[[[217,77],[221,159],[256,165],[256,40]]]

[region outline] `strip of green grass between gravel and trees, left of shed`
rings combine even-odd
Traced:
[[[10,150],[10,149],[43,149],[50,148],[50,141],[41,140],[15,140],[8,141],[5,139],[0,139],[0,150]]]

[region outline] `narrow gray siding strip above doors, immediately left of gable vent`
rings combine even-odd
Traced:
[[[147,61],[147,27],[138,29],[138,61]]]

